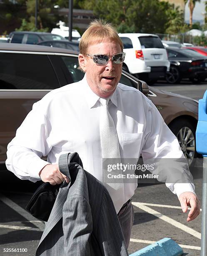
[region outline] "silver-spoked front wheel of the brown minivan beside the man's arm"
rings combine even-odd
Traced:
[[[188,120],[177,120],[169,125],[170,130],[175,134],[180,143],[180,147],[189,166],[193,166],[197,157],[195,144],[196,127]]]

